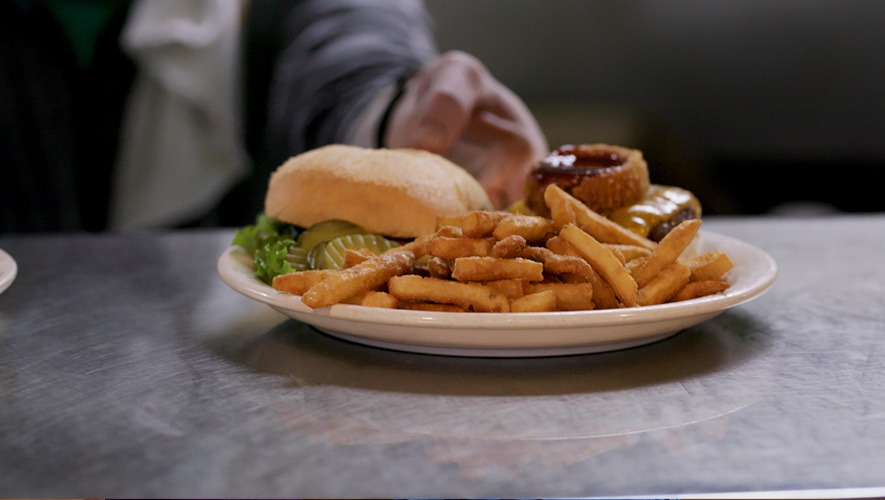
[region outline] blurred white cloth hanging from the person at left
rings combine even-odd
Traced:
[[[122,33],[138,72],[123,122],[111,229],[170,226],[249,171],[240,0],[137,0]]]

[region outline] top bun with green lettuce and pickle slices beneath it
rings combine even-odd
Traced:
[[[441,156],[331,145],[273,173],[264,212],[234,245],[269,284],[293,271],[348,267],[347,250],[378,254],[432,233],[438,217],[490,208],[479,183]]]

